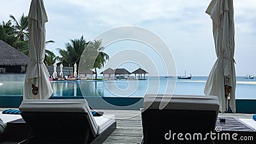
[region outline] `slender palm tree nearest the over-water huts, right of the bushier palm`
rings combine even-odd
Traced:
[[[106,60],[109,60],[109,56],[105,52],[102,52],[104,47],[101,44],[101,40],[94,40],[93,42],[90,42],[88,47],[92,47],[94,50],[97,51],[97,58],[95,58],[95,61],[93,63],[93,68],[95,70],[95,79],[97,79],[96,68],[104,67],[104,63],[106,62]]]

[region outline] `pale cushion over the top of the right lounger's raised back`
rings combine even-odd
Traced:
[[[189,110],[212,110],[219,111],[219,100],[215,96],[205,95],[163,95],[146,94],[144,109],[159,109],[161,102],[167,104],[164,109],[189,109]]]

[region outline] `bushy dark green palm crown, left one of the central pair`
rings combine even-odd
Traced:
[[[62,58],[60,62],[65,65],[74,65],[79,63],[81,55],[88,43],[84,40],[84,37],[81,36],[80,39],[70,40],[71,42],[66,44],[66,49],[58,49]]]

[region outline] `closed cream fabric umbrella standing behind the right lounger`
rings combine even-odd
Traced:
[[[216,95],[220,101],[220,111],[230,109],[236,113],[236,72],[234,67],[234,7],[233,0],[212,0],[206,13],[212,19],[217,60],[205,84],[205,95]]]

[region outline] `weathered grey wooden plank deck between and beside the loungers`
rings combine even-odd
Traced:
[[[3,110],[0,108],[0,111]],[[134,110],[106,110],[99,109],[104,114],[116,116],[116,130],[108,137],[104,144],[140,143],[142,137],[142,124],[140,111]],[[220,113],[219,117],[252,118],[252,114]],[[1,144],[16,144],[17,142],[6,141]]]

